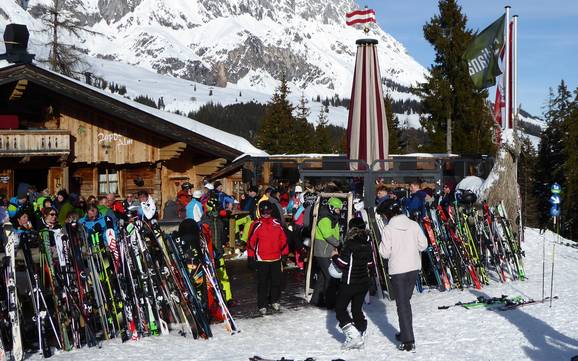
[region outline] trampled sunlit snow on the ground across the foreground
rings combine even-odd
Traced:
[[[555,234],[546,233],[546,296],[550,294],[552,245]],[[417,352],[397,351],[394,334],[398,319],[395,303],[372,298],[364,306],[368,338],[362,350],[341,351],[345,339],[334,312],[317,308],[287,310],[279,315],[238,320],[242,330],[229,335],[222,325],[213,325],[215,336],[208,341],[178,335],[146,337],[122,344],[104,342],[102,349],[83,348],[57,353],[54,360],[248,360],[265,358],[304,360],[570,360],[578,355],[576,320],[576,266],[578,250],[561,244],[555,248],[554,300],[515,310],[471,309],[438,306],[468,302],[477,296],[502,294],[540,299],[542,293],[542,235],[526,230],[523,245],[528,277],[524,282],[492,283],[481,290],[467,289],[414,293],[412,298]],[[561,240],[564,241],[565,240]],[[491,275],[491,274],[490,274]],[[234,290],[233,290],[234,291]],[[32,360],[40,360],[35,355]]]

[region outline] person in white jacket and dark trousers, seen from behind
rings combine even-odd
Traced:
[[[397,305],[401,351],[415,352],[410,299],[421,269],[421,252],[427,248],[427,238],[417,222],[402,212],[399,202],[387,200],[377,208],[388,219],[381,231],[379,254],[388,260],[391,285]]]

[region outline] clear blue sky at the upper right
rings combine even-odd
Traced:
[[[541,116],[548,88],[564,79],[571,90],[578,86],[578,1],[575,0],[458,0],[468,27],[481,30],[504,13],[518,15],[518,87],[522,108]],[[405,45],[410,55],[429,68],[431,45],[423,25],[438,14],[435,0],[357,1],[377,12],[381,28]],[[491,91],[492,101],[494,91]]]

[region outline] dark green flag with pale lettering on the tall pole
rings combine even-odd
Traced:
[[[496,77],[502,72],[498,66],[500,49],[504,45],[504,22],[502,15],[492,25],[479,33],[464,53],[468,63],[470,77],[478,89],[489,88],[496,84]]]

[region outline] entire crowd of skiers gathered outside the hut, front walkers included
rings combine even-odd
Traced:
[[[389,273],[394,288],[400,318],[400,350],[415,350],[409,300],[415,287],[416,273],[421,268],[420,253],[427,241],[420,226],[407,215],[421,216],[427,202],[438,197],[444,205],[454,200],[455,184],[444,185],[443,193],[434,195],[429,188],[421,189],[419,182],[404,189],[377,185],[376,210],[387,224],[381,231],[383,241],[379,254],[389,260]],[[361,215],[354,212],[349,224],[344,224],[344,204],[339,198],[322,203],[317,214],[315,232],[312,206],[318,192],[300,185],[278,189],[249,187],[239,200],[223,191],[223,184],[205,182],[200,189],[186,182],[177,194],[180,213],[199,228],[205,224],[211,232],[215,263],[221,269],[222,289],[229,306],[235,301],[225,280],[224,251],[228,244],[228,227],[234,217],[237,246],[246,250],[248,266],[256,271],[258,314],[280,309],[281,278],[284,266],[291,262],[304,270],[307,261],[307,239],[311,236],[314,264],[314,293],[311,304],[334,309],[340,328],[346,335],[345,348],[360,347],[364,342],[367,321],[362,312],[366,295],[370,292],[371,273],[376,250],[372,249],[370,234]],[[33,186],[20,187],[12,198],[0,199],[0,218],[10,219],[17,232],[31,229],[53,229],[70,222],[79,222],[87,229],[110,228],[105,219],[112,220],[116,230],[120,220],[138,217],[156,218],[154,199],[146,192],[136,196],[127,194],[118,199],[115,194],[90,196],[68,194],[60,190],[54,196],[37,192]],[[96,225],[100,224],[99,227]],[[104,237],[104,235],[103,235]],[[337,270],[337,271],[335,271]],[[333,272],[332,272],[333,271]],[[337,273],[338,276],[335,275]],[[348,307],[351,305],[351,315]]]

